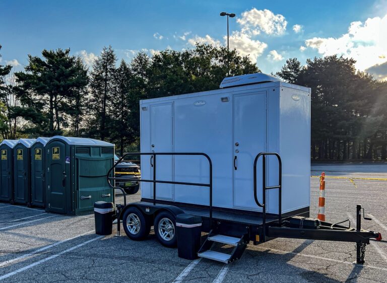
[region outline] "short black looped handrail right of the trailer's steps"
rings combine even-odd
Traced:
[[[279,165],[279,169],[278,169],[278,186],[266,186],[266,156],[268,155],[274,155],[277,157],[278,159],[278,165]],[[260,157],[262,156],[262,198],[263,198],[263,202],[260,203],[260,201],[258,200],[258,197],[256,195],[256,163],[257,161],[260,159]],[[278,192],[278,225],[279,227],[281,227],[282,225],[282,207],[281,207],[281,203],[282,203],[282,161],[281,161],[281,157],[278,153],[275,153],[275,152],[262,152],[260,153],[259,155],[257,155],[254,159],[254,169],[253,169],[253,175],[254,175],[254,199],[255,199],[255,203],[262,207],[262,225],[263,225],[263,242],[265,242],[266,240],[266,190],[270,190],[270,189],[279,189],[279,192]]]

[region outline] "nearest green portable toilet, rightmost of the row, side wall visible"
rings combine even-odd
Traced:
[[[46,211],[79,215],[94,202],[114,202],[106,174],[114,165],[114,145],[82,137],[51,137],[45,147]]]

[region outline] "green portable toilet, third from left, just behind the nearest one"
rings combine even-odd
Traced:
[[[44,147],[49,137],[38,137],[31,146],[31,205],[44,207]]]

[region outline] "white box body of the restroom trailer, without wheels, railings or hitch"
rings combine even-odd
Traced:
[[[234,78],[232,78],[234,79]],[[223,89],[142,100],[141,152],[203,152],[213,163],[213,206],[261,211],[253,197],[253,162],[261,152],[282,158],[282,213],[309,211],[310,89],[253,74]],[[249,85],[246,84],[246,81]],[[254,84],[251,84],[254,83]],[[239,86],[242,85],[242,86]],[[152,179],[150,156],[142,156],[142,178]],[[203,157],[158,156],[160,180],[208,182]],[[278,183],[278,162],[267,161],[267,183]],[[262,187],[262,161],[257,183]],[[143,200],[153,185],[142,183]],[[157,184],[164,203],[209,205],[207,187]],[[262,193],[259,189],[260,202]],[[278,190],[267,193],[267,213],[278,214]]]

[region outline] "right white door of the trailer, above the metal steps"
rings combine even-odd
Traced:
[[[233,123],[234,207],[258,210],[253,163],[257,154],[266,151],[266,92],[234,95]],[[257,165],[257,172],[257,182],[261,184],[262,165]],[[262,201],[261,190],[258,195]]]

